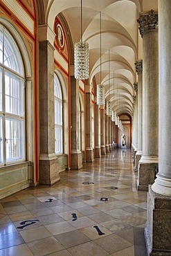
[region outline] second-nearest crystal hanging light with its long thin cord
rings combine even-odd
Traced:
[[[100,84],[97,85],[97,104],[105,105],[105,84],[102,84],[102,15],[100,12]]]

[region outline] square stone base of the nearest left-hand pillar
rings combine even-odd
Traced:
[[[42,154],[39,157],[39,184],[53,185],[57,181],[60,181],[57,156]]]

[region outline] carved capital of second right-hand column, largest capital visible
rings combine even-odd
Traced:
[[[140,35],[143,37],[147,31],[154,30],[159,27],[158,12],[155,12],[154,10],[150,10],[150,12],[141,12],[137,22],[139,24],[138,28]]]

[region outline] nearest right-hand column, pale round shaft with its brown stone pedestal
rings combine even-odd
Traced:
[[[147,200],[145,240],[150,255],[171,255],[171,5],[159,0],[159,172]]]

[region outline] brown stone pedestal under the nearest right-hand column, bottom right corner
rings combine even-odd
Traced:
[[[171,197],[156,194],[149,185],[145,242],[148,256],[171,255]]]

